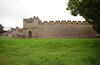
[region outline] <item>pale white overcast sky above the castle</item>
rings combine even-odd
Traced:
[[[66,11],[68,0],[0,0],[0,24],[5,29],[23,27],[23,18],[38,16],[42,21],[80,20]]]

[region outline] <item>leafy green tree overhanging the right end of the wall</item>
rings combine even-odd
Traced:
[[[100,0],[69,0],[67,10],[74,16],[83,16],[100,33]]]

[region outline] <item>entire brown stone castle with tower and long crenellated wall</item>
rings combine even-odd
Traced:
[[[81,21],[44,21],[38,17],[23,19],[23,28],[12,28],[9,34],[23,38],[94,38],[92,25]]]

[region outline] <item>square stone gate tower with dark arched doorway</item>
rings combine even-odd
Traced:
[[[27,38],[37,38],[38,24],[42,21],[38,17],[33,17],[29,19],[23,19],[23,37]]]

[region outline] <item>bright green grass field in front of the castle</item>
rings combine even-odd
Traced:
[[[100,38],[0,39],[0,65],[100,65]]]

